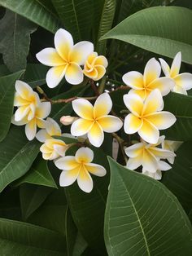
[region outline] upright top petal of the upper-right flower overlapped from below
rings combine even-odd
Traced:
[[[144,70],[144,84],[145,86],[149,85],[152,81],[154,81],[156,78],[159,78],[161,73],[161,66],[155,58],[152,58],[149,60],[146,64],[145,70]]]

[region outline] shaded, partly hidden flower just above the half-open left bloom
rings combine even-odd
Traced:
[[[52,139],[52,136],[61,136],[61,129],[54,119],[47,117],[45,129],[39,130],[36,138],[41,142],[45,142],[46,139]]]

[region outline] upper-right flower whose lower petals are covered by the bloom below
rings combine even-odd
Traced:
[[[168,95],[170,90],[174,86],[171,78],[159,77],[161,73],[161,66],[155,58],[149,60],[146,64],[144,74],[137,71],[131,71],[125,73],[123,76],[123,82],[131,87],[129,94],[136,94],[146,99],[151,93],[151,90],[159,89],[161,95]]]

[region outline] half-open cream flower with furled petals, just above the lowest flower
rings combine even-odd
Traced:
[[[65,152],[70,145],[67,145],[60,139],[46,139],[45,143],[41,145],[40,151],[42,158],[45,160],[55,160],[58,157],[64,157]]]

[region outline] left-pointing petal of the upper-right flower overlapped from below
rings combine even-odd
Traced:
[[[133,89],[142,90],[144,87],[142,73],[139,73],[137,71],[125,73],[122,79],[125,85]]]

